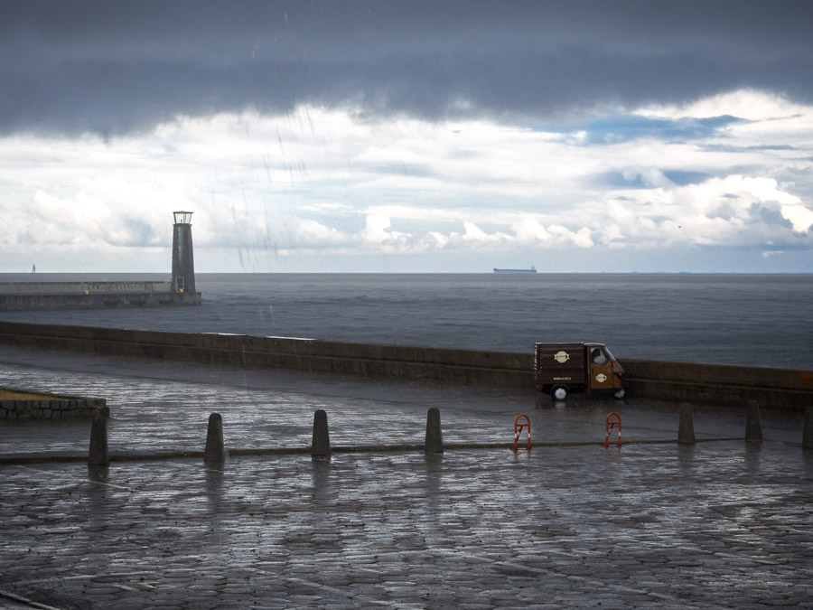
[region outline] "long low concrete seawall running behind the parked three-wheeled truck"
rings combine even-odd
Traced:
[[[393,380],[534,387],[530,349],[488,352],[10,322],[0,322],[0,343]],[[756,399],[765,408],[792,410],[813,405],[813,371],[632,359],[621,364],[631,396],[721,405]]]

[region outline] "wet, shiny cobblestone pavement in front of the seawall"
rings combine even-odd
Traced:
[[[5,350],[5,348],[4,348]],[[27,354],[27,355],[26,355]],[[677,406],[535,402],[530,394],[388,386],[267,371],[0,350],[5,385],[108,398],[111,451],[306,446],[325,408],[334,444],[444,440],[584,446],[0,466],[0,608],[810,607],[813,452],[800,418],[702,409],[696,446],[604,449],[677,436]],[[70,369],[73,371],[70,371]],[[223,379],[225,377],[225,379]],[[0,425],[0,453],[87,451],[89,426]],[[168,446],[169,445],[169,446]]]

